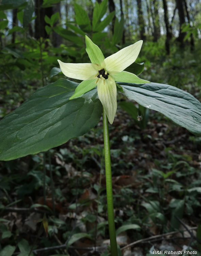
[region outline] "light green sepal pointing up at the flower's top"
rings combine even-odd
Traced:
[[[86,51],[89,55],[91,62],[101,66],[101,63],[105,59],[101,49],[97,45],[95,45],[91,41],[91,39],[87,37],[87,35],[85,36],[85,40],[86,40]]]

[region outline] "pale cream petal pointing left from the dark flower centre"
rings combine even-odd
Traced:
[[[61,71],[67,77],[79,80],[96,79],[94,75],[101,69],[99,65],[93,63],[64,63],[58,60]]]

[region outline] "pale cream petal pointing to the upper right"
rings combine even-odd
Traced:
[[[119,52],[107,57],[102,62],[101,67],[109,74],[123,71],[137,59],[141,46],[142,40],[121,49]]]

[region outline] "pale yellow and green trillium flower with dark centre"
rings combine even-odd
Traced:
[[[87,36],[85,36],[85,39],[86,51],[92,63],[63,63],[58,60],[64,75],[84,80],[78,85],[70,100],[80,97],[97,86],[98,97],[110,124],[112,124],[117,111],[117,86],[115,81],[135,84],[149,83],[135,74],[123,71],[137,59],[142,40],[105,59],[101,49]]]

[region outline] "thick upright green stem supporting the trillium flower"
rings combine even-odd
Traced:
[[[118,256],[117,238],[114,225],[114,208],[112,198],[112,173],[110,162],[110,142],[108,132],[108,118],[103,108],[103,136],[104,136],[104,152],[105,152],[105,176],[106,176],[106,191],[107,191],[107,211],[108,224],[110,234],[111,255]]]

